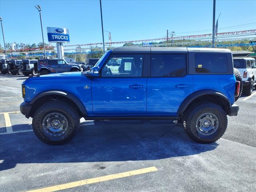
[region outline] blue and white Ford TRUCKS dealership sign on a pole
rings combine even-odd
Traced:
[[[47,27],[49,42],[69,43],[69,33],[67,28]]]

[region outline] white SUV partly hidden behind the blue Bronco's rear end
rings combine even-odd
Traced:
[[[254,58],[233,58],[234,67],[242,75],[244,93],[251,95],[253,87],[256,88],[256,62]]]

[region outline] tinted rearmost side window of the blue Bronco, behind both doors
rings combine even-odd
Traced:
[[[228,72],[228,58],[226,54],[196,53],[195,64],[197,73]]]

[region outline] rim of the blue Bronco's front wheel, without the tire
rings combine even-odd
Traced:
[[[46,134],[59,137],[68,129],[68,120],[60,113],[50,113],[42,121],[43,130]]]

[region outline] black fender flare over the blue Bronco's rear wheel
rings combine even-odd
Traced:
[[[184,113],[184,111],[186,110],[186,108],[188,107],[188,105],[193,101],[195,100],[196,98],[200,97],[200,96],[203,96],[203,95],[216,95],[216,96],[220,96],[222,97],[226,102],[227,104],[230,106],[230,101],[228,100],[228,98],[220,93],[220,92],[217,92],[215,90],[200,90],[200,91],[196,91],[192,94],[190,94],[189,96],[186,97],[186,99],[183,100],[182,104],[180,105],[179,109],[178,109],[178,112],[177,114],[181,115]]]

